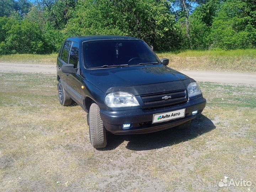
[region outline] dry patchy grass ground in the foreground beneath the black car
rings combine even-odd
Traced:
[[[54,75],[1,73],[0,191],[256,191],[256,89],[200,86],[207,107],[190,128],[108,134],[95,150]],[[218,187],[225,176],[252,185]]]

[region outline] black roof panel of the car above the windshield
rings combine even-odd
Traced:
[[[70,41],[96,41],[96,40],[110,40],[110,39],[129,39],[129,40],[140,40],[135,37],[127,37],[127,36],[117,36],[117,35],[92,35],[92,36],[77,36],[77,37],[70,37],[66,40]]]

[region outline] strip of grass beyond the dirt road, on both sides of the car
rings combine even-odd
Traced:
[[[196,51],[157,53],[159,58],[169,58],[171,68],[176,70],[213,70],[256,72],[256,49],[229,51]],[[0,62],[55,64],[57,54],[0,55]]]

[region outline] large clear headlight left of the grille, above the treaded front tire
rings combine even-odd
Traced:
[[[112,92],[105,96],[105,103],[108,107],[132,107],[138,106],[137,99],[126,92]]]

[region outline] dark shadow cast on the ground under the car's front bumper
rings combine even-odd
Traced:
[[[209,118],[200,114],[192,120],[191,126],[187,129],[177,129],[177,127],[173,127],[159,132],[133,135],[114,135],[108,133],[108,144],[106,148],[101,150],[113,150],[123,141],[128,141],[126,148],[134,151],[159,149],[196,138],[215,128]]]

